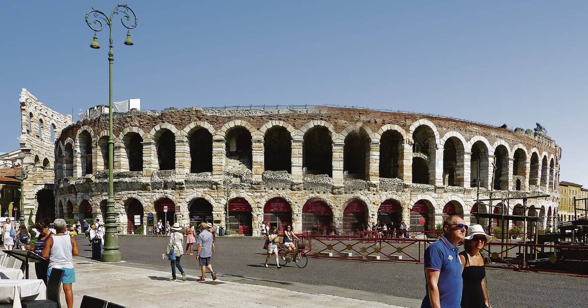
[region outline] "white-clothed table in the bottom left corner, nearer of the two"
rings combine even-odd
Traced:
[[[21,308],[21,300],[47,299],[47,288],[41,279],[0,279],[0,303]]]

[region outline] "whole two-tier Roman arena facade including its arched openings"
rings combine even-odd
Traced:
[[[494,197],[550,195],[529,199],[540,210],[528,214],[556,224],[561,148],[539,125],[509,130],[340,107],[193,107],[115,113],[114,135],[123,233],[165,218],[225,225],[227,203],[231,231],[246,235],[259,235],[262,221],[291,223],[296,232],[353,233],[376,221],[430,230],[447,215],[473,222],[472,213],[489,211],[476,204],[477,193],[487,198],[490,189]],[[108,114],[55,136],[54,174],[46,178],[55,184],[44,185],[54,201],[28,198],[25,207],[104,218]],[[516,215],[521,204],[493,211]]]

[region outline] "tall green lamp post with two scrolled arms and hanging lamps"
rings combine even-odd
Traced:
[[[119,262],[121,260],[121,251],[118,246],[118,229],[116,226],[116,217],[114,211],[114,184],[112,180],[112,173],[114,169],[114,137],[112,134],[112,63],[114,62],[114,55],[112,53],[112,22],[115,15],[121,15],[122,26],[127,29],[125,45],[133,45],[131,40],[130,30],[137,26],[137,16],[135,12],[124,4],[116,5],[110,16],[98,9],[92,8],[86,14],[86,23],[90,29],[94,31],[94,38],[90,47],[99,49],[98,38],[96,32],[103,29],[104,24],[109,29],[108,41],[108,113],[109,113],[109,127],[108,127],[108,200],[106,201],[106,236],[104,238],[104,252],[102,253],[102,262]],[[132,18],[131,18],[132,16]],[[90,21],[92,19],[92,21]],[[134,19],[134,20],[133,20]]]

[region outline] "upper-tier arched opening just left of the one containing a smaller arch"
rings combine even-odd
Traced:
[[[400,165],[400,144],[402,135],[395,130],[387,130],[380,138],[380,178],[398,178]]]

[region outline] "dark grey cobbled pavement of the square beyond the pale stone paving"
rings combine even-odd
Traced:
[[[87,243],[83,238],[79,241]],[[167,238],[153,236],[121,236],[122,258],[127,262],[167,267],[169,263],[161,258],[167,242]],[[304,269],[290,264],[282,269],[264,268],[262,245],[258,238],[217,238],[212,264],[216,271],[229,275],[335,286],[410,299],[425,295],[422,265],[310,258]],[[90,247],[82,246],[81,254],[90,256]],[[198,269],[194,256],[184,256],[181,262],[188,272],[195,273]],[[274,262],[270,259],[269,263]],[[487,269],[486,272],[493,307],[588,307],[586,278],[513,270]]]

